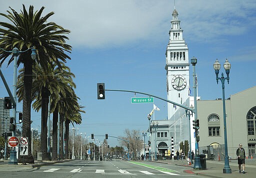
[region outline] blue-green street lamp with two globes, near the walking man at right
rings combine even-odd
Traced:
[[[223,173],[231,173],[231,168],[229,167],[228,162],[228,153],[227,153],[227,139],[226,139],[226,111],[225,111],[225,90],[224,90],[224,83],[225,79],[227,80],[227,83],[229,83],[229,70],[231,68],[231,64],[226,59],[225,63],[223,64],[223,67],[226,72],[226,77],[224,77],[223,72],[221,72],[221,77],[218,77],[218,72],[220,69],[220,63],[216,59],[215,63],[213,64],[213,68],[215,70],[216,74],[216,81],[218,83],[218,80],[221,81],[222,84],[222,103],[223,103],[223,122],[224,122],[224,144],[225,144],[225,164],[223,168]]]

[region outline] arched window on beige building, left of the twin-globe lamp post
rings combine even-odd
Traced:
[[[208,116],[208,136],[219,136],[219,116],[216,114],[210,114]]]

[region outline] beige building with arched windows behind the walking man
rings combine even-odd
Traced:
[[[248,158],[255,158],[256,86],[232,94],[225,100],[228,156],[236,158],[241,143]],[[224,132],[222,99],[197,100],[199,153],[223,159]]]

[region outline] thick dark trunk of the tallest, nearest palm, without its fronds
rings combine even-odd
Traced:
[[[30,56],[26,56],[27,58]],[[22,108],[22,136],[28,137],[28,155],[18,157],[18,162],[34,163],[31,153],[31,88],[32,88],[32,62],[24,60],[24,90],[23,90],[23,108]]]

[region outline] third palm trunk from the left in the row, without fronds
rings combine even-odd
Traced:
[[[57,122],[58,122],[58,109],[55,108],[52,116],[52,160],[57,159]]]

